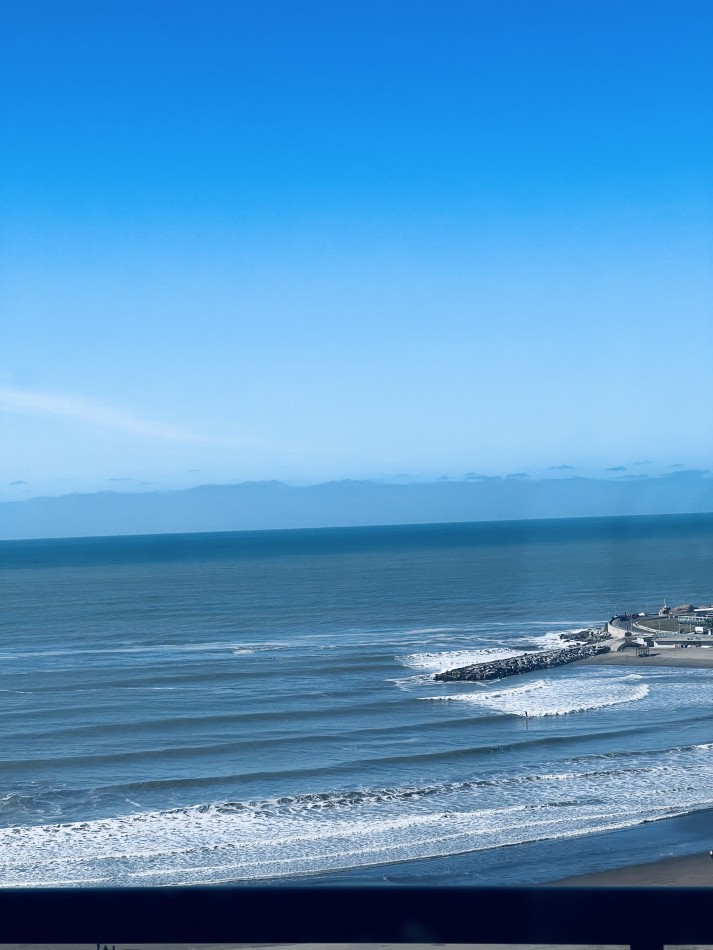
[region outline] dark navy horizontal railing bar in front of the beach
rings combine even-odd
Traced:
[[[1,890],[0,943],[713,943],[708,888],[282,887]]]

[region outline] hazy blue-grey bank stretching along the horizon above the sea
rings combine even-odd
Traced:
[[[698,469],[612,479],[261,481],[3,502],[0,539],[704,512],[713,512],[713,477]]]

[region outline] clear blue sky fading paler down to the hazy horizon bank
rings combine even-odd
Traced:
[[[1,17],[0,498],[713,467],[708,0]]]

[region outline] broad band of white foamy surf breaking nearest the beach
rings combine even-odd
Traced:
[[[573,837],[713,804],[710,747],[552,766],[423,788],[2,828],[0,880],[23,887],[274,879]]]

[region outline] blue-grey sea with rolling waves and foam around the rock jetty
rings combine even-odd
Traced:
[[[713,847],[713,515],[0,543],[0,884],[534,884]],[[527,714],[527,715],[526,715]]]

